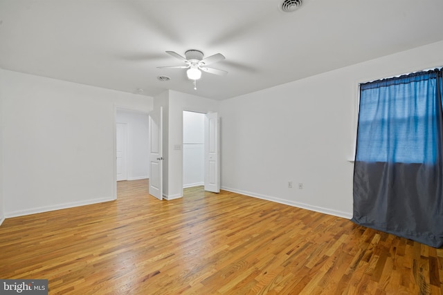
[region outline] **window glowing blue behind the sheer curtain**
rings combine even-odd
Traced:
[[[356,161],[435,162],[435,71],[361,84]]]

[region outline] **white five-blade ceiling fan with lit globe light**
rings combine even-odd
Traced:
[[[203,53],[200,50],[191,49],[186,51],[185,57],[182,57],[174,51],[166,51],[169,55],[183,61],[186,66],[159,66],[158,68],[188,68],[186,75],[188,79],[194,80],[194,89],[197,89],[197,80],[201,78],[201,71],[206,73],[224,76],[228,72],[226,70],[219,70],[218,68],[208,68],[208,64],[214,64],[217,61],[225,59],[221,53],[211,55],[210,57],[203,58]]]

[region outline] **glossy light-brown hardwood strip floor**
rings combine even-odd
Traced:
[[[9,218],[0,278],[49,294],[443,294],[443,249],[350,220],[201,187]]]

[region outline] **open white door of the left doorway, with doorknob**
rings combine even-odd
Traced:
[[[163,108],[150,113],[150,195],[163,200]]]

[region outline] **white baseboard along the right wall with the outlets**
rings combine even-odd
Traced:
[[[275,197],[271,197],[271,196],[265,196],[265,195],[261,195],[261,194],[258,194],[258,193],[251,193],[249,191],[242,191],[240,189],[233,189],[233,188],[230,188],[230,187],[221,187],[221,189],[224,189],[225,191],[232,191],[233,193],[241,193],[242,195],[253,197],[253,198],[258,198],[258,199],[262,199],[262,200],[268,200],[268,201],[277,202],[277,203],[280,203],[280,204],[286,204],[286,205],[289,205],[289,206],[292,206],[292,207],[298,207],[298,208],[307,209],[307,210],[310,210],[310,211],[316,211],[316,212],[324,213],[324,214],[327,214],[327,215],[342,217],[342,218],[346,218],[346,219],[351,219],[352,218],[352,213],[347,213],[347,212],[344,212],[344,211],[337,211],[337,210],[333,210],[333,209],[327,209],[327,208],[323,208],[323,207],[312,206],[312,205],[301,203],[301,202],[294,202],[294,201],[284,200],[284,199],[275,198]]]

